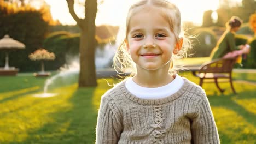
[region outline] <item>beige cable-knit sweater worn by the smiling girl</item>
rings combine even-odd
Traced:
[[[127,91],[125,81],[101,99],[96,143],[219,143],[205,92],[184,79],[169,97],[146,100]]]

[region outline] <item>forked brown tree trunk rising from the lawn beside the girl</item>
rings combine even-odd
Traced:
[[[69,13],[77,22],[80,33],[80,74],[79,87],[97,86],[95,71],[95,18],[97,13],[97,1],[85,1],[85,18],[80,19],[74,11],[74,0],[66,0]]]

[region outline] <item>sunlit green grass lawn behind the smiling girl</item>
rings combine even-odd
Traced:
[[[189,72],[180,75],[199,82]],[[254,75],[235,73],[234,79],[256,82]],[[50,85],[55,97],[34,97],[45,80],[31,73],[0,77],[0,143],[94,143],[101,95],[118,80],[98,79],[98,87],[78,89],[77,76],[65,75]],[[237,95],[229,83],[220,86],[224,94],[213,83],[203,88],[222,143],[256,143],[256,84],[235,81]]]

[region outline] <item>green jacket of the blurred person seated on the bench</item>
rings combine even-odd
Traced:
[[[235,44],[235,34],[230,31],[224,32],[211,53],[211,59],[222,58],[226,53],[234,50],[239,50]]]

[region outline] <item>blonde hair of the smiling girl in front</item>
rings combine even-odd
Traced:
[[[163,12],[167,22],[170,24],[170,28],[175,36],[176,42],[178,42],[181,37],[183,38],[183,45],[181,51],[179,51],[177,55],[173,54],[172,56],[170,73],[176,73],[176,71],[178,69],[181,69],[181,67],[176,68],[176,64],[173,62],[173,60],[187,57],[187,49],[191,47],[191,43],[188,38],[184,37],[183,29],[181,26],[181,13],[178,7],[168,2],[167,0],[141,0],[130,7],[126,17],[125,38],[121,41],[121,44],[118,47],[117,52],[115,53],[115,56],[113,58],[114,69],[119,74],[125,73],[125,70],[127,69],[131,70],[130,72],[132,75],[137,73],[136,64],[132,61],[131,56],[127,52],[125,39],[127,38],[127,34],[129,32],[129,23],[132,15],[136,14],[136,12],[138,10],[141,10],[141,8],[145,5],[162,8],[161,12]]]

